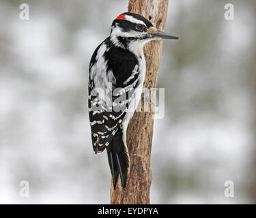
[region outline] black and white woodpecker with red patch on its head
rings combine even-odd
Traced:
[[[143,45],[159,39],[178,37],[159,31],[139,14],[120,14],[113,20],[110,36],[96,48],[89,63],[91,140],[96,154],[107,151],[114,188],[119,175],[126,187],[130,171],[126,130],[143,90]]]

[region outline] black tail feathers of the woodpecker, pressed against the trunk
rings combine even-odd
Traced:
[[[119,129],[113,140],[106,147],[106,151],[109,159],[109,167],[111,170],[114,189],[117,185],[118,175],[120,174],[121,183],[123,187],[126,187],[126,181],[128,176],[129,159],[126,153],[126,147],[122,141],[122,131]]]

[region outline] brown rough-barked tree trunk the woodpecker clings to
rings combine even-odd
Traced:
[[[128,12],[141,14],[161,31],[165,29],[168,0],[130,0]],[[144,46],[147,71],[144,87],[152,81],[156,87],[162,40],[149,42]],[[154,107],[151,105],[151,107]],[[144,108],[141,102],[141,108]],[[152,172],[150,155],[152,147],[154,108],[151,112],[135,112],[127,131],[127,144],[130,153],[130,176],[123,189],[118,180],[117,187],[111,187],[111,204],[150,204]],[[113,184],[113,183],[111,183]]]

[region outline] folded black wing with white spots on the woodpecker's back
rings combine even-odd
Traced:
[[[120,50],[109,48],[105,40],[98,46],[90,62],[88,106],[95,153],[104,151],[111,142],[126,116],[138,82],[136,61],[124,61],[118,52]],[[126,65],[132,67],[130,72]]]

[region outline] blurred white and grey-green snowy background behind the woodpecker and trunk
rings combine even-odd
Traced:
[[[20,20],[20,3],[30,19]],[[224,19],[225,3],[235,20]],[[87,77],[94,49],[128,1],[0,0],[0,203],[109,204],[94,155]],[[154,123],[153,204],[256,202],[253,1],[170,0]],[[235,184],[225,198],[224,183]],[[30,197],[19,196],[28,181]]]

